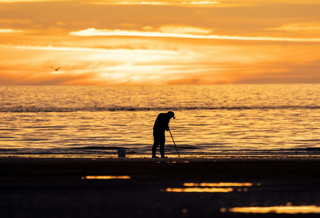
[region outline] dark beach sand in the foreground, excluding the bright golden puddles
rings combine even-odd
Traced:
[[[0,158],[0,170],[1,217],[320,216],[220,211],[320,206],[319,159]],[[82,179],[87,175],[131,179]],[[253,186],[231,187],[228,193],[165,191],[188,188],[183,183],[220,182]]]

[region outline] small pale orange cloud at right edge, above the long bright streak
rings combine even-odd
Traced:
[[[277,31],[288,31],[288,32],[296,32],[296,31],[319,31],[320,23],[291,23],[285,24],[280,27],[270,27],[265,30],[277,30]]]

